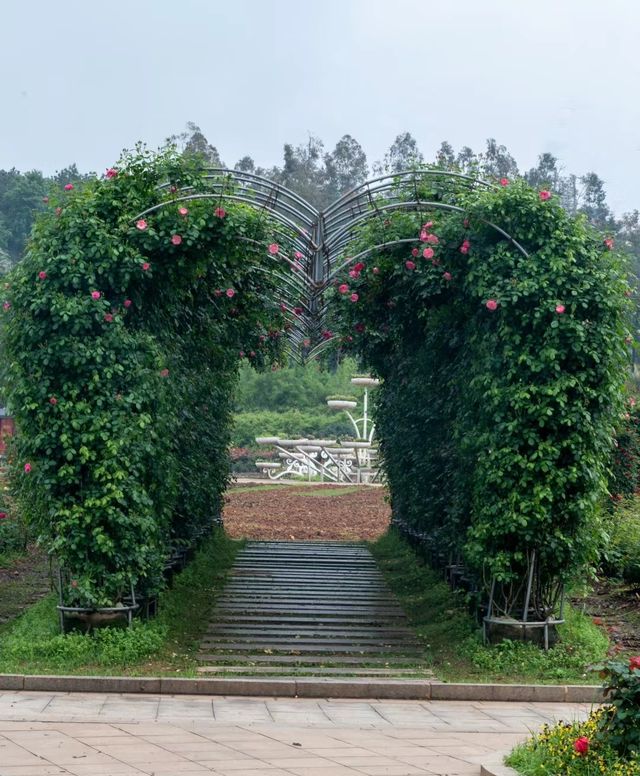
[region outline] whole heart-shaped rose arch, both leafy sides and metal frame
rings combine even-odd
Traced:
[[[397,523],[508,578],[588,557],[627,357],[610,244],[546,192],[442,170],[318,213],[257,176],[126,155],[60,193],[8,278],[21,508],[65,598],[153,592],[219,514],[241,358],[331,344],[383,378]]]

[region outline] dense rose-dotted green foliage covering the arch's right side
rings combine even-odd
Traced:
[[[521,577],[531,551],[541,579],[566,576],[597,553],[628,363],[624,264],[522,182],[421,195],[462,212],[370,221],[351,255],[412,233],[413,246],[336,279],[343,346],[383,378],[394,518],[485,578]]]

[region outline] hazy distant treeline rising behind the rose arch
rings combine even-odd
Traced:
[[[168,138],[167,144],[177,145],[182,153],[197,156],[208,165],[230,166],[220,158],[200,128],[191,122],[185,132]],[[542,153],[536,167],[520,170],[507,148],[489,139],[480,153],[466,146],[456,151],[444,141],[432,158],[425,158],[411,133],[404,132],[396,137],[384,158],[371,165],[358,141],[351,135],[344,135],[331,151],[326,151],[316,137],[310,137],[298,146],[286,143],[281,166],[259,167],[251,156],[244,156],[233,167],[277,181],[322,208],[372,174],[398,172],[424,163],[485,178],[521,176],[533,186],[553,190],[567,210],[584,213],[594,226],[614,236],[617,245],[632,256],[635,274],[640,274],[638,210],[616,217],[607,204],[604,182],[595,172],[566,173],[559,160],[550,153]],[[93,175],[81,173],[75,164],[51,177],[37,170],[0,170],[0,269],[6,270],[22,256],[34,218],[44,207],[43,197],[54,187],[78,183]]]

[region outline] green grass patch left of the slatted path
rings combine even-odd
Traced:
[[[158,616],[131,628],[61,634],[49,595],[0,628],[0,673],[195,675],[195,652],[242,547],[216,530],[159,599]]]

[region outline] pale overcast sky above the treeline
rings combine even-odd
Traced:
[[[551,151],[640,208],[637,0],[0,0],[0,168],[102,172],[198,124],[233,165],[309,133]]]

